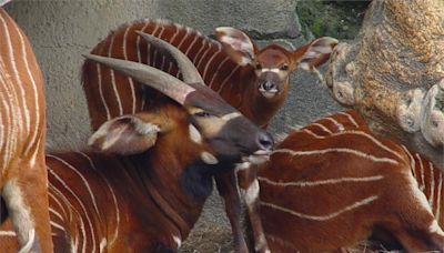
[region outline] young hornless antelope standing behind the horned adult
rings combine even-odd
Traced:
[[[138,36],[138,31],[141,36]],[[297,67],[312,70],[324,63],[337,43],[332,38],[320,38],[294,51],[278,44],[259,50],[245,33],[234,28],[218,28],[219,42],[176,23],[145,20],[112,31],[92,53],[141,62],[180,77],[176,65],[147,43],[140,32],[175,45],[194,63],[205,84],[263,128],[286,98],[290,73]],[[113,70],[85,61],[82,81],[93,130],[113,117],[144,111],[147,108],[144,87]],[[236,251],[246,252],[234,171],[219,173],[215,180],[225,200]]]

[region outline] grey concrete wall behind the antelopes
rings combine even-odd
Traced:
[[[48,142],[51,148],[83,145],[89,120],[79,77],[81,53],[89,52],[121,23],[144,18],[168,18],[210,34],[215,27],[241,28],[254,38],[300,39],[295,0],[88,0],[12,1],[6,6],[33,44],[47,80]],[[292,78],[292,91],[272,124],[282,132],[290,125],[337,110],[326,90],[302,71]]]

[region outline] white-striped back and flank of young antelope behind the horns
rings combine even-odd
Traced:
[[[145,20],[125,24],[111,32],[92,53],[142,62],[179,77],[171,59],[148,44],[135,31],[161,38],[184,52],[196,65],[205,83],[221,93],[231,104],[239,104],[241,68],[222,51],[218,41],[211,40],[188,27],[164,20]],[[83,89],[90,108],[93,130],[114,117],[134,113],[145,107],[144,88],[132,79],[98,63],[85,61],[82,73]],[[236,101],[238,100],[238,101]]]

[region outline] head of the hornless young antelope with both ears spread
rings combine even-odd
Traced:
[[[330,53],[337,44],[336,39],[323,37],[294,51],[278,44],[259,49],[249,36],[230,27],[218,28],[216,37],[234,62],[240,65],[250,64],[254,69],[255,87],[270,100],[287,92],[292,71],[297,67],[312,71],[329,60]]]

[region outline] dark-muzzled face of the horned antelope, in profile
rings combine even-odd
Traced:
[[[218,160],[261,163],[273,149],[273,138],[253,124],[208,87],[195,87],[186,109],[193,125]]]

